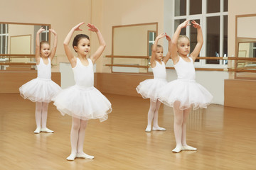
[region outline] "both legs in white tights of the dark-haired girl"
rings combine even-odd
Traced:
[[[67,157],[70,161],[73,161],[76,157],[85,159],[94,158],[83,152],[87,122],[88,120],[80,120],[79,118],[72,117],[72,128],[70,132],[71,154]]]

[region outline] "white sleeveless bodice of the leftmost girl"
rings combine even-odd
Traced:
[[[38,78],[39,79],[50,79],[51,78],[51,64],[48,58],[48,64],[44,64],[43,59],[40,57],[40,62],[36,65],[38,68]]]

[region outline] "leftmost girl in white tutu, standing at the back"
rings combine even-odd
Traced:
[[[38,69],[38,77],[20,88],[20,94],[23,98],[28,98],[36,102],[36,130],[34,133],[53,132],[46,128],[48,104],[55,94],[60,91],[60,86],[51,80],[51,64],[57,48],[57,33],[50,29],[50,32],[55,35],[53,49],[50,52],[50,45],[46,41],[39,40],[40,33],[43,32],[43,27],[36,33],[36,66]],[[42,124],[41,124],[42,123]]]

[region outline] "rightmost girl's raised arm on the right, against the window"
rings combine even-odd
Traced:
[[[195,49],[193,50],[193,52],[191,52],[191,57],[193,59],[193,61],[195,62],[196,60],[196,57],[198,57],[200,51],[201,51],[201,48],[203,46],[203,32],[202,32],[202,28],[201,26],[196,23],[196,21],[191,21],[191,23],[193,23],[193,27],[197,29],[197,32],[198,32],[198,35],[197,35],[197,44],[196,44],[196,47]]]

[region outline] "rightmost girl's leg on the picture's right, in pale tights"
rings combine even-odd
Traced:
[[[181,138],[183,150],[197,150],[195,147],[191,147],[186,144],[186,122],[188,120],[188,115],[190,112],[191,112],[191,108],[187,108],[183,112],[184,119],[183,119],[183,124],[182,124],[182,138]]]

